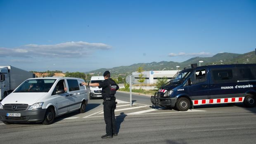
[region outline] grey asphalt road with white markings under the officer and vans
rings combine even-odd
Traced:
[[[129,94],[117,93],[129,102]],[[255,144],[256,108],[242,104],[197,106],[187,112],[155,109],[149,97],[133,95],[133,109],[119,103],[116,120],[119,135],[105,134],[102,99],[89,100],[86,113],[73,112],[57,118],[52,125],[0,122],[2,144]],[[139,104],[137,104],[139,103]],[[147,105],[148,104],[148,105]],[[147,111],[147,112],[146,112]],[[137,113],[137,114],[134,114]]]

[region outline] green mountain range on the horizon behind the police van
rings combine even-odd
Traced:
[[[218,53],[213,57],[193,57],[183,62],[174,61],[160,61],[151,63],[138,63],[132,64],[130,66],[118,66],[114,68],[100,68],[94,71],[88,71],[86,73],[102,74],[104,71],[110,71],[110,73],[116,75],[127,76],[132,72],[137,71],[138,67],[143,67],[144,71],[164,71],[164,70],[176,70],[176,66],[180,66],[179,69],[184,67],[189,68],[191,64],[197,63],[199,66],[199,61],[204,61],[201,66],[204,65],[215,65],[215,64],[252,64],[256,63],[255,51],[248,52],[245,54],[235,54],[235,53]],[[113,76],[113,75],[112,75]]]

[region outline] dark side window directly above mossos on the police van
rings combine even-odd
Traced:
[[[232,69],[213,70],[212,74],[215,83],[226,83],[233,80]]]

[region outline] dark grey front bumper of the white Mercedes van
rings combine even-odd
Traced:
[[[12,123],[42,122],[47,109],[33,109],[30,111],[6,111],[0,110],[0,120]],[[20,113],[20,117],[10,117],[7,113]]]

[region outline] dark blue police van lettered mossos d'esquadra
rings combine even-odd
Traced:
[[[203,104],[256,105],[256,64],[193,65],[175,74],[151,96],[155,106],[187,111]]]

